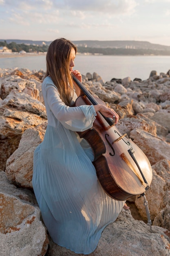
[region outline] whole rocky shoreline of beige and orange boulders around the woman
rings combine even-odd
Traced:
[[[74,256],[53,243],[41,219],[32,189],[33,151],[47,125],[41,92],[43,70],[0,69],[0,248],[1,255]],[[103,231],[90,256],[170,255],[170,74],[150,73],[104,81],[96,73],[82,82],[119,114],[124,130],[148,157],[152,182],[146,198],[128,200],[114,223]],[[80,256],[83,254],[79,254]]]

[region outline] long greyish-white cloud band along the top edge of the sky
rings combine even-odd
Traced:
[[[0,0],[8,8],[21,10],[58,9],[69,11],[90,11],[100,13],[130,14],[135,11],[137,0]]]

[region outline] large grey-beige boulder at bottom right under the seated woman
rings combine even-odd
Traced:
[[[122,210],[117,220],[109,224],[99,240],[97,248],[89,256],[168,256],[170,255],[170,232],[143,221],[134,220],[130,210]],[[46,256],[83,256],[56,245],[50,240]]]

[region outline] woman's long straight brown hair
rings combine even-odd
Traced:
[[[62,101],[69,105],[73,97],[73,79],[69,72],[70,52],[77,47],[65,38],[58,38],[50,45],[46,54],[46,76],[50,76],[57,87]]]

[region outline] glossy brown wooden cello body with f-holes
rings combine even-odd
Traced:
[[[73,79],[78,84],[79,81]],[[83,90],[89,94],[85,88]],[[98,98],[91,99],[91,94],[90,97],[85,94],[77,98],[75,106],[105,104]],[[111,198],[123,201],[148,190],[152,181],[148,158],[126,134],[118,130],[112,120],[97,112],[93,127],[78,134],[91,145],[98,180]]]

